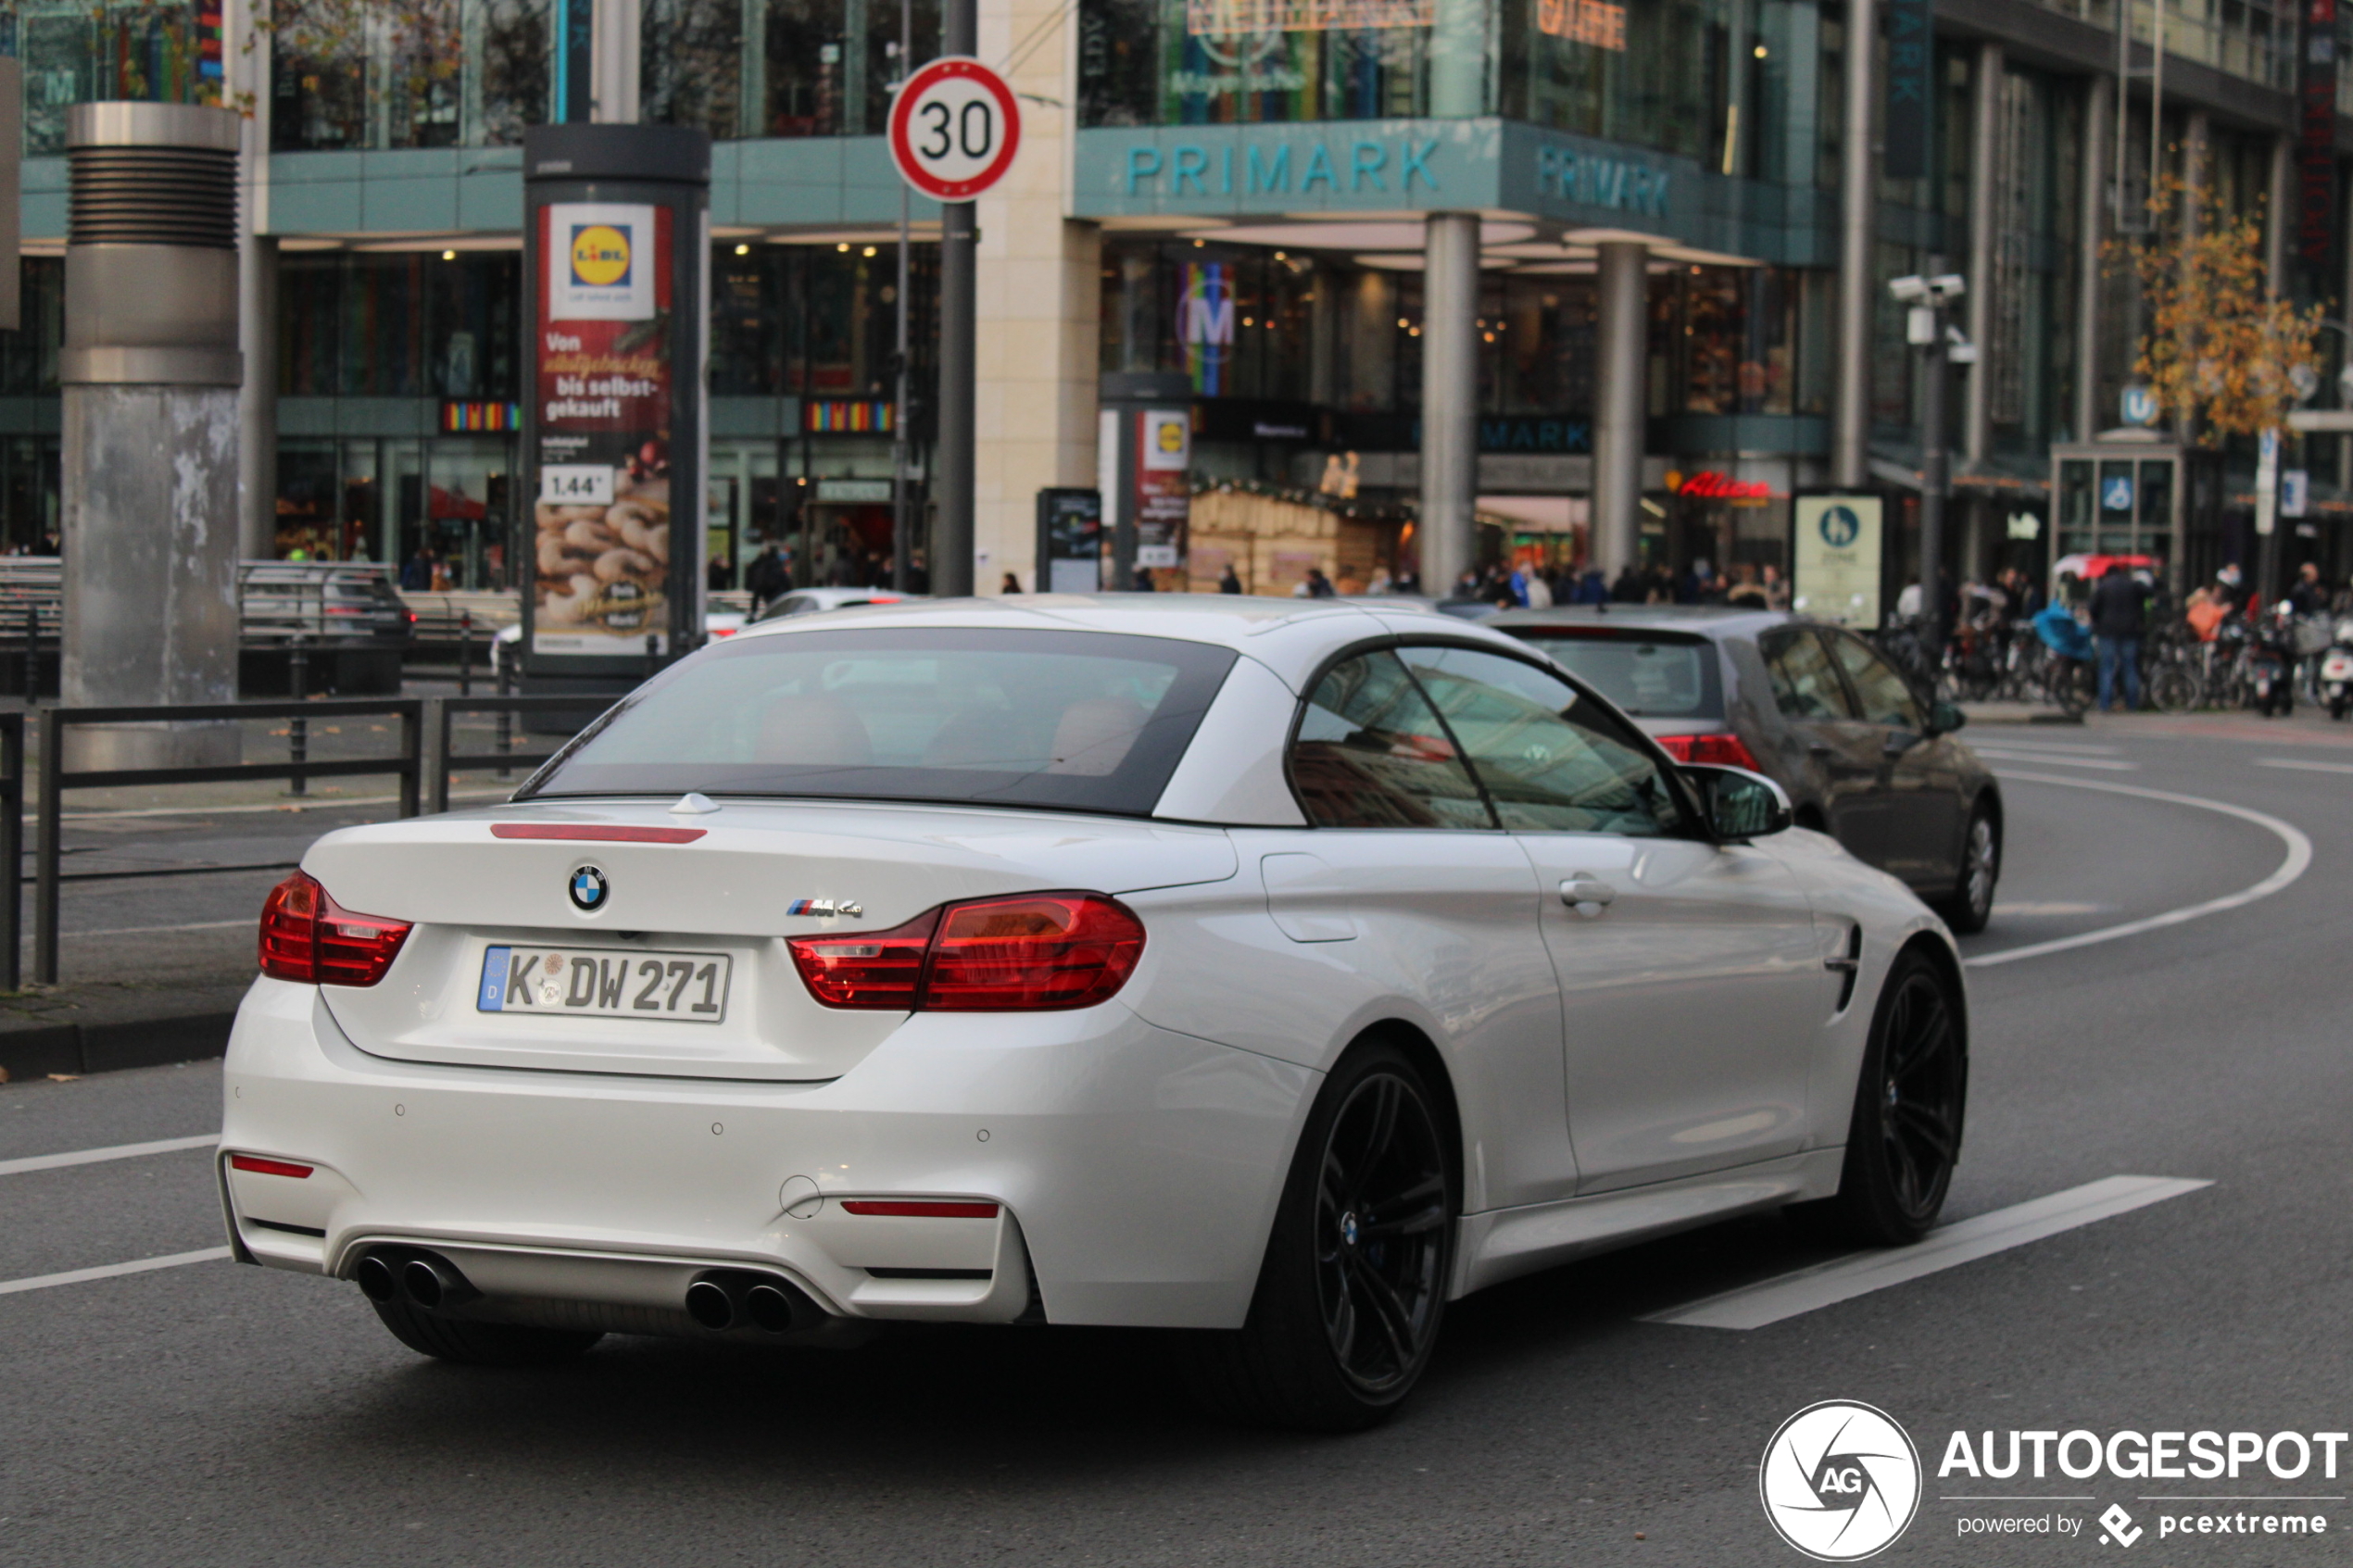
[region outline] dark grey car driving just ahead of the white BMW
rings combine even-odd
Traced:
[[[2002,795],[1953,736],[1960,710],[1854,632],[1682,604],[1513,609],[1485,625],[1544,649],[1671,755],[1779,780],[1798,825],[1901,877],[1953,931],[1986,929]]]

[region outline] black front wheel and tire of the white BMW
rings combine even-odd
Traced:
[[[1788,1208],[1826,1241],[1911,1246],[1937,1225],[1960,1164],[1969,1041],[1960,997],[1920,950],[1897,957],[1871,1016],[1838,1197]]]

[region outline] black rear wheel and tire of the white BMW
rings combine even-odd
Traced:
[[[1188,1335],[1195,1399],[1292,1432],[1362,1432],[1395,1413],[1438,1345],[1454,1269],[1447,1126],[1398,1046],[1341,1058],[1292,1157],[1249,1319]]]

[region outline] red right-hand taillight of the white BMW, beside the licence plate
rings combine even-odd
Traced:
[[[1115,997],[1144,957],[1144,922],[1101,893],[1019,893],[786,947],[826,1006],[1042,1013]]]

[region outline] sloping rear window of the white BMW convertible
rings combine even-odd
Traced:
[[[529,788],[1148,816],[1233,649],[1167,637],[856,628],[725,642],[647,682]]]

